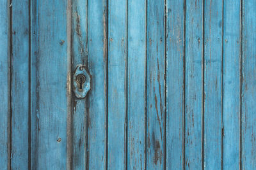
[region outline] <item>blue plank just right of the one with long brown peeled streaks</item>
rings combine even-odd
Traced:
[[[167,6],[166,169],[182,169],[184,157],[184,35],[185,1]]]

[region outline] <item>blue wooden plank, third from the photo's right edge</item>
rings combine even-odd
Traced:
[[[221,169],[222,1],[205,1],[204,42],[204,168]]]

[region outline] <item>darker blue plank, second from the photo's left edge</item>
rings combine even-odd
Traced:
[[[12,1],[11,168],[28,169],[29,2]]]

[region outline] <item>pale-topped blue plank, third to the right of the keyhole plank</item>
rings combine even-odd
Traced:
[[[128,1],[128,24],[127,169],[145,169],[146,1]]]

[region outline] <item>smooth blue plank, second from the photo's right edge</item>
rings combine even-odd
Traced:
[[[223,1],[223,169],[239,169],[240,1]]]

